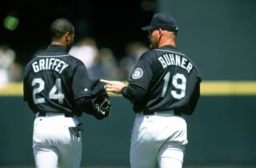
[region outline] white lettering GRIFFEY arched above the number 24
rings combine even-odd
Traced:
[[[61,73],[68,67],[68,64],[58,58],[42,58],[35,61],[32,67],[35,73],[43,70],[54,70]]]

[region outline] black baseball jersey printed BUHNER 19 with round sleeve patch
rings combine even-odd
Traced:
[[[201,75],[177,48],[167,45],[141,55],[121,93],[134,112],[169,111],[191,114],[200,96]]]

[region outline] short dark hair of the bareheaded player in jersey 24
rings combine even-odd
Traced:
[[[59,18],[52,22],[50,27],[51,40],[59,40],[65,33],[74,33],[74,26],[67,19]]]

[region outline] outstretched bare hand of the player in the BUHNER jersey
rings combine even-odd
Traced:
[[[127,86],[126,83],[121,81],[110,81],[104,79],[101,79],[100,81],[107,84],[107,91],[111,91],[115,94],[121,94],[121,90]]]

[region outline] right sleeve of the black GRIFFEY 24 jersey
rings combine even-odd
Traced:
[[[91,96],[91,79],[87,73],[85,65],[79,64],[73,75],[72,89],[74,99]]]

